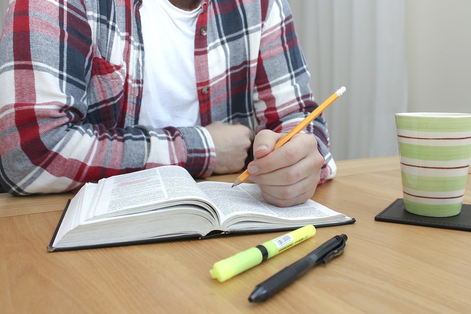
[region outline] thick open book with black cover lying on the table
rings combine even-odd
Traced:
[[[231,186],[196,183],[179,166],[86,183],[64,209],[48,250],[355,222],[312,200],[287,208],[270,205],[262,199],[257,184]]]

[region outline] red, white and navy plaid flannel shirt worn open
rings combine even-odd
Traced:
[[[11,1],[0,41],[0,182],[11,194],[77,190],[166,164],[207,177],[216,156],[204,126],[287,132],[317,106],[286,0],[203,0],[202,127],[139,125],[141,1]],[[325,121],[306,131],[325,158],[325,181],[335,175]]]

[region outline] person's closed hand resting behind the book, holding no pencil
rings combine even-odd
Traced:
[[[216,148],[214,173],[225,174],[240,171],[245,166],[247,151],[254,140],[252,130],[241,124],[219,121],[206,126]]]

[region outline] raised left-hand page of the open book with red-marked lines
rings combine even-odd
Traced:
[[[206,195],[182,167],[162,166],[102,179],[88,219],[112,217],[181,203],[198,204]],[[160,205],[160,206],[158,206]]]

